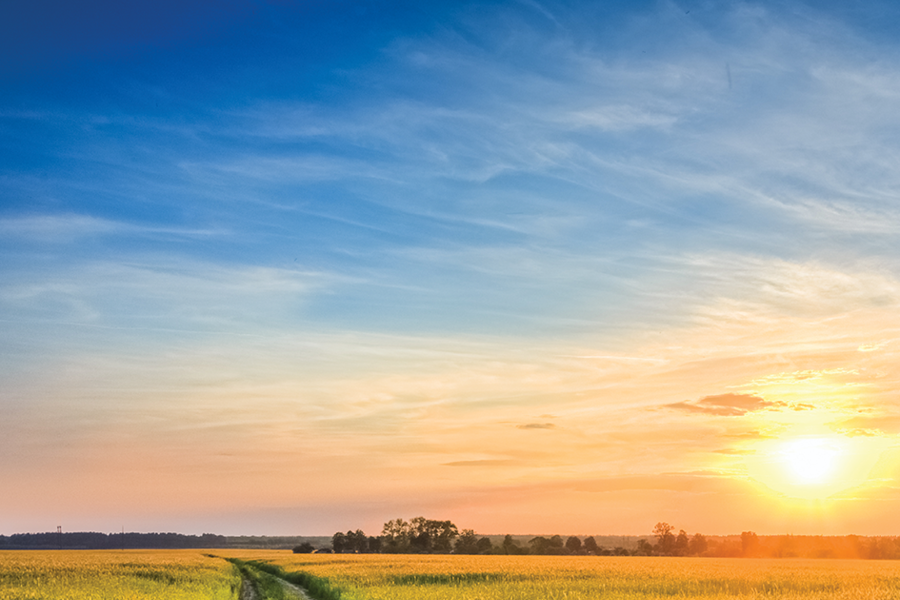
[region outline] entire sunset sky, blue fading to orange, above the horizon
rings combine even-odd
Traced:
[[[0,533],[900,535],[900,7],[0,7]]]

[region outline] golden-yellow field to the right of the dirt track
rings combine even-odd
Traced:
[[[896,600],[893,561],[552,556],[291,555],[286,572],[326,578],[342,600]]]

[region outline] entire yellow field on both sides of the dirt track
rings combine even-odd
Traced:
[[[0,600],[236,599],[237,568],[204,552],[316,587],[321,600],[900,598],[893,561],[104,550],[0,552]]]

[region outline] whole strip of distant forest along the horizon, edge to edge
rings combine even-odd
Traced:
[[[576,556],[699,556],[745,558],[900,559],[900,537],[757,535],[705,536],[677,533],[657,523],[653,535],[477,535],[451,521],[394,519],[381,534],[337,532],[333,536],[222,536],[205,533],[49,532],[0,535],[0,549],[268,548],[294,552],[393,554],[512,554]]]

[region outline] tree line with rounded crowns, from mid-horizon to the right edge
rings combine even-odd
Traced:
[[[593,536],[536,536],[522,543],[506,535],[494,543],[471,529],[459,530],[451,521],[416,517],[388,521],[377,536],[367,536],[360,529],[337,532],[331,548],[316,549],[304,543],[294,552],[900,559],[900,537],[758,536],[745,531],[740,537],[711,538],[701,533],[689,535],[683,529],[676,533],[674,526],[659,522],[653,535],[638,539],[633,548],[603,547]]]

